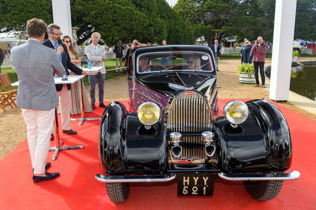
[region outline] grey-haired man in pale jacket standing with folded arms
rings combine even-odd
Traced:
[[[100,40],[100,34],[98,32],[94,32],[91,35],[92,43],[85,47],[85,52],[87,54],[88,60],[91,60],[91,66],[102,66],[98,73],[92,73],[88,75],[89,83],[90,83],[90,99],[91,99],[91,108],[95,109],[95,80],[98,79],[99,86],[99,107],[105,108],[106,105],[103,103],[104,97],[104,74],[106,73],[104,68],[104,61],[106,61],[105,57],[105,49],[100,44],[98,44]]]

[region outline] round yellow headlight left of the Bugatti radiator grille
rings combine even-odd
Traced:
[[[153,125],[160,118],[160,109],[155,103],[143,103],[137,109],[137,117],[144,125]]]

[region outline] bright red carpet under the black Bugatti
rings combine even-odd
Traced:
[[[220,113],[231,99],[220,99]],[[246,101],[246,99],[241,99]],[[106,102],[108,104],[110,102]],[[126,102],[124,102],[126,104]],[[97,107],[87,117],[101,117]],[[32,164],[23,141],[0,161],[0,209],[316,209],[316,122],[276,105],[284,114],[292,134],[294,159],[290,172],[297,170],[301,177],[284,181],[280,194],[271,201],[257,201],[246,191],[241,181],[215,180],[212,197],[178,197],[177,180],[164,183],[131,183],[130,196],[124,203],[112,203],[103,183],[94,179],[100,173],[98,133],[100,121],[72,121],[77,135],[60,132],[64,146],[82,145],[84,149],[60,151],[48,172],[60,172],[57,179],[32,182]],[[58,115],[60,117],[60,115]],[[80,115],[72,116],[72,118]],[[59,119],[60,121],[60,119]],[[54,142],[51,142],[54,146]]]

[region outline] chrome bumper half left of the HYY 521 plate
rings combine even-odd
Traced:
[[[176,178],[175,173],[168,175],[141,175],[141,176],[104,176],[95,175],[100,182],[167,182]]]

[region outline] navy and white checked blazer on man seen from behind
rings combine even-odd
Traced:
[[[11,49],[11,62],[19,79],[15,103],[32,110],[51,110],[58,105],[53,71],[58,76],[65,69],[56,50],[43,46],[36,39]]]

